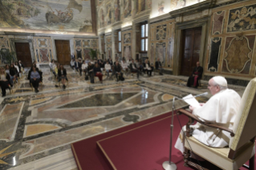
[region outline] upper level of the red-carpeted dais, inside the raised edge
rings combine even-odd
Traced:
[[[182,124],[189,120],[185,115],[179,118]],[[163,169],[162,163],[169,160],[170,123],[171,116],[100,140],[98,144],[114,169]],[[177,115],[174,117],[174,128],[173,145],[181,131]],[[181,153],[174,147],[172,161],[178,169],[191,169],[183,167]]]

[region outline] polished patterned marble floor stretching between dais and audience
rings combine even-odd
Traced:
[[[107,79],[94,84],[67,67],[68,86],[55,87],[48,68],[39,93],[26,75],[10,95],[0,98],[0,169],[77,169],[71,143],[136,123],[172,109],[174,96],[207,91],[185,87],[186,77],[153,75]],[[205,85],[206,84],[206,85]],[[244,87],[230,86],[242,95]],[[198,98],[205,102],[210,95]],[[187,106],[177,100],[176,108]]]

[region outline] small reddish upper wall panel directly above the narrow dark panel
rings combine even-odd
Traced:
[[[222,34],[226,11],[218,11],[213,14],[212,34]]]

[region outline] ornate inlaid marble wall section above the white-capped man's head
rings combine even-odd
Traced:
[[[205,75],[255,75],[256,4],[237,3],[213,10]]]

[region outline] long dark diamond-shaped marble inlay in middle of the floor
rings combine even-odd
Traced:
[[[68,103],[59,108],[113,106],[136,94],[137,93],[97,94],[85,99],[80,99],[79,101],[75,101],[73,103]]]

